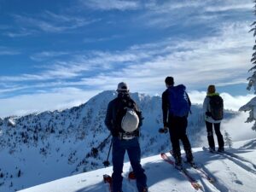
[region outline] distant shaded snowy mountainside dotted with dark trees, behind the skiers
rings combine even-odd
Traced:
[[[79,107],[0,120],[0,192],[102,168],[110,142],[102,143],[109,134],[104,118],[108,102],[114,97],[115,91],[103,91]],[[143,157],[167,151],[170,139],[158,133],[162,126],[160,96],[134,93],[131,97],[143,111]],[[227,111],[225,119],[236,114]],[[204,124],[201,106],[193,105],[188,132],[194,147],[201,143]],[[101,143],[98,155],[91,155],[91,148]]]

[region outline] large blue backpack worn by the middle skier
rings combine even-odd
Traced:
[[[168,88],[169,113],[175,117],[187,116],[190,111],[189,97],[183,84]]]

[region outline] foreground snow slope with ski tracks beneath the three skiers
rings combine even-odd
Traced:
[[[193,148],[195,161],[208,175],[215,179],[209,183],[200,173],[188,168],[189,173],[201,184],[198,191],[214,192],[253,192],[256,189],[256,140],[235,143],[235,148],[228,149],[236,157],[221,154],[211,154],[201,148]],[[168,154],[169,155],[169,154]],[[150,192],[189,192],[196,191],[188,180],[173,166],[163,161],[160,155],[154,155],[142,160],[148,176]],[[124,166],[125,192],[137,191],[134,181],[127,179],[131,171],[130,164]],[[112,167],[102,168],[93,172],[65,177],[44,183],[20,192],[102,192],[108,191],[108,185],[103,183],[102,175],[111,174]]]

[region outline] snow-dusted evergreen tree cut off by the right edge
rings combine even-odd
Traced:
[[[256,0],[253,1],[255,3],[254,5],[254,15],[256,15]],[[253,37],[256,38],[256,21],[252,23],[252,29],[249,32],[253,32]],[[252,73],[250,77],[247,78],[249,81],[247,84],[247,90],[251,90],[253,88],[254,94],[256,94],[256,39],[255,44],[253,46],[253,55],[251,62],[253,64],[253,67],[249,69],[248,72]],[[250,102],[247,102],[244,106],[241,106],[239,108],[239,111],[249,112],[249,117],[247,118],[247,123],[253,122],[252,129],[256,131],[256,96],[253,97],[253,99]]]

